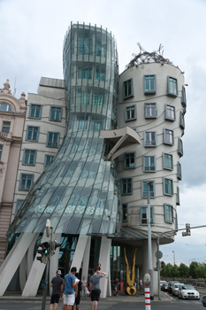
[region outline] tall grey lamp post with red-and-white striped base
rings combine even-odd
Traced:
[[[153,292],[153,270],[152,270],[152,246],[151,246],[151,215],[150,215],[150,197],[149,185],[153,182],[148,182],[148,260],[149,260],[149,275],[150,275],[150,300],[154,300]]]

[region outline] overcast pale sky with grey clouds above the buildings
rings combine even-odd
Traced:
[[[164,46],[164,57],[185,72],[186,131],[179,182],[179,229],[206,225],[206,1],[0,0],[0,88],[10,80],[16,97],[36,93],[41,76],[63,79],[62,50],[71,21],[103,25],[118,43],[119,73],[139,52]],[[16,82],[15,82],[16,81]],[[206,228],[161,246],[165,263],[206,261]]]

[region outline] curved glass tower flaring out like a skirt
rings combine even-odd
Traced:
[[[118,54],[102,27],[71,24],[65,36],[67,124],[56,158],[35,182],[9,234],[43,232],[112,234],[121,208],[117,165],[108,161],[112,142],[101,130],[117,127]]]

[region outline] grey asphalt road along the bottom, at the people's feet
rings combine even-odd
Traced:
[[[200,300],[182,300],[179,298],[171,298],[168,301],[152,301],[151,310],[198,310],[202,309],[202,297]],[[63,304],[59,303],[58,310],[62,310]],[[41,310],[42,303],[40,301],[10,301],[10,300],[0,300],[0,310]],[[50,309],[50,302],[47,301],[46,310]],[[80,310],[90,310],[90,302],[83,301],[80,303]],[[145,310],[145,305],[143,302],[122,302],[122,301],[100,301],[97,307],[98,310]]]

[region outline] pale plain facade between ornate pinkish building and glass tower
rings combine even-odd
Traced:
[[[28,94],[11,221],[27,193],[57,154],[65,135],[64,80],[41,78],[38,94]]]

